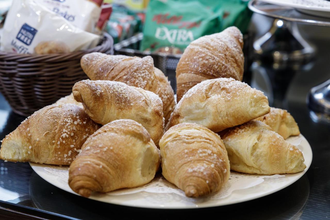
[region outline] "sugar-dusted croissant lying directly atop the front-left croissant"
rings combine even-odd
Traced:
[[[141,123],[158,145],[164,130],[163,104],[158,95],[106,80],[82,80],[72,91],[94,122],[105,125],[117,119],[132,119]]]

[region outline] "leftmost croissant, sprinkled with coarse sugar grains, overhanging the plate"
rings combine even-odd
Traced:
[[[86,138],[98,128],[77,105],[49,105],[36,111],[1,141],[0,159],[70,165]]]

